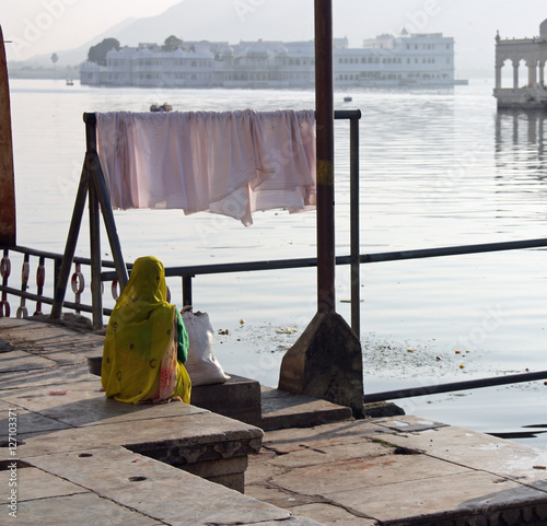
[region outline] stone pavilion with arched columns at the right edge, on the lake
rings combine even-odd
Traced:
[[[496,36],[496,87],[499,108],[547,108],[545,62],[547,61],[547,20],[533,38]],[[503,68],[512,68],[509,85],[502,85]],[[521,71],[524,69],[524,74]],[[521,79],[522,77],[522,79]]]

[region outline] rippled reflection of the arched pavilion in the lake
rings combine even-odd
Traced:
[[[538,180],[547,177],[543,109],[499,109],[496,115],[496,166],[500,175],[526,168]]]

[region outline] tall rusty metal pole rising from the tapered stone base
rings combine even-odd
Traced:
[[[315,0],[317,311],[335,312],[333,2]]]

